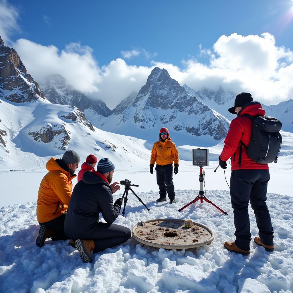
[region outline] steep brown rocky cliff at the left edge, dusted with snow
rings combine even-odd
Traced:
[[[13,103],[45,100],[38,83],[28,74],[18,54],[7,47],[0,37],[0,81],[2,97]]]

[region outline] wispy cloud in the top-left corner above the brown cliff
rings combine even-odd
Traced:
[[[20,28],[17,24],[18,9],[8,4],[6,0],[0,0],[0,36],[6,44],[10,44],[10,35]]]

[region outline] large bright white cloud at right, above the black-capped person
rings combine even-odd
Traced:
[[[183,69],[163,62],[152,64],[167,69],[181,85],[195,90],[222,86],[235,94],[247,91],[267,105],[293,98],[293,52],[276,46],[269,33],[223,35],[212,49],[200,47],[200,54],[209,57],[208,65],[193,58],[183,60]]]

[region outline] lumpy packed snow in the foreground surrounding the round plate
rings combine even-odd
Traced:
[[[193,219],[214,231],[210,246],[176,251],[141,246],[130,239],[94,254],[91,264],[84,264],[67,241],[47,240],[42,248],[35,245],[40,227],[35,202],[2,207],[0,292],[292,292],[293,198],[268,193],[275,252],[265,251],[252,240],[250,255],[243,256],[223,248],[225,241],[234,240],[229,191],[207,193],[228,216],[207,203],[193,204],[178,212],[197,193],[198,190],[176,190],[177,203],[172,205],[156,203],[157,193],[138,193],[149,212],[130,193],[126,217],[120,215],[115,224],[131,229],[137,222],[150,219]],[[114,194],[114,199],[120,196]],[[253,238],[258,236],[258,228],[250,208],[249,215]]]

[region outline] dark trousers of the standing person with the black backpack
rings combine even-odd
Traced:
[[[268,210],[267,188],[269,170],[233,170],[230,179],[231,204],[234,209],[235,244],[242,250],[249,250],[251,241],[248,201],[254,211],[260,241],[273,245],[273,227]]]

